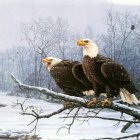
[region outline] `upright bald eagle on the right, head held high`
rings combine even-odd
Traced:
[[[98,46],[90,39],[77,41],[83,47],[83,70],[87,79],[93,83],[96,102],[101,92],[100,86],[105,87],[107,98],[104,105],[111,105],[110,98],[120,94],[123,102],[138,104],[135,93],[138,92],[126,69],[112,59],[99,55]],[[94,102],[94,103],[96,103]]]

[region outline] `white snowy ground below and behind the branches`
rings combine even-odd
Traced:
[[[27,131],[32,130],[34,125],[27,126],[33,118],[31,116],[22,116],[19,114],[20,108],[13,108],[12,105],[14,102],[23,101],[24,98],[14,97],[14,96],[6,96],[6,93],[0,92],[0,103],[6,104],[6,107],[0,107],[0,130],[8,131]],[[52,111],[58,110],[61,108],[61,105],[48,103],[42,100],[36,99],[28,99],[25,103],[27,106],[36,106],[38,108],[42,108],[46,113],[50,113]],[[83,113],[82,111],[80,113]],[[118,137],[129,134],[133,134],[135,132],[139,132],[140,125],[136,127],[133,125],[127,132],[122,134],[120,132],[124,123],[121,123],[119,126],[115,126],[116,122],[106,121],[100,119],[90,119],[89,122],[84,122],[81,125],[81,121],[76,121],[74,125],[71,127],[71,133],[68,133],[67,129],[61,129],[58,133],[58,129],[65,124],[70,123],[71,119],[60,119],[60,116],[65,116],[64,113],[61,113],[57,116],[54,116],[49,119],[43,119],[39,121],[37,127],[37,134],[42,138],[42,140],[85,140],[102,137]],[[102,112],[100,116],[104,117],[119,117],[120,113],[116,112]],[[126,116],[128,117],[128,116]]]

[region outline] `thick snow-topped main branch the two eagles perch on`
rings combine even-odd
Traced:
[[[62,99],[64,101],[76,102],[76,103],[80,104],[82,107],[85,107],[85,108],[93,108],[93,109],[102,108],[101,105],[88,107],[86,105],[86,102],[88,100],[80,98],[80,97],[74,97],[74,96],[69,96],[69,95],[65,95],[65,94],[62,94],[62,93],[56,93],[56,92],[51,91],[47,88],[29,86],[29,85],[21,83],[14,76],[11,76],[11,78],[13,79],[13,81],[16,84],[18,84],[19,88],[21,88],[21,89],[37,91],[41,94],[49,95],[49,96],[52,96],[52,97],[57,98],[57,99]],[[109,106],[109,107],[106,107],[106,108],[111,109],[111,110],[115,110],[115,111],[119,111],[119,112],[122,112],[122,113],[126,113],[130,116],[133,116],[134,118],[136,118],[138,120],[140,119],[140,110],[132,108],[132,107],[127,106],[127,105],[123,105],[123,104],[120,104],[120,103],[117,103],[117,102],[113,102],[112,106]]]

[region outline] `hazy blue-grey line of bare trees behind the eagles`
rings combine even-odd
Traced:
[[[103,55],[123,64],[140,89],[140,16],[107,11],[106,32],[96,35]],[[0,53],[0,89],[17,90],[10,78],[15,75],[27,84],[59,91],[41,59],[55,56],[82,60],[82,50],[76,47],[79,38],[93,39],[94,28],[87,26],[81,35],[74,32],[68,21],[52,17],[33,20],[22,25],[22,42]],[[16,43],[15,43],[16,44]]]

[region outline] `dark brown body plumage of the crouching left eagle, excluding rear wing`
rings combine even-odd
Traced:
[[[75,64],[79,64],[79,62],[63,60],[55,65],[50,73],[65,94],[83,96],[82,91],[84,91],[86,87],[73,75],[72,67]]]

